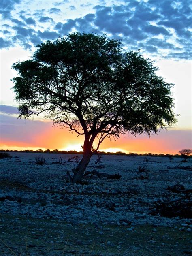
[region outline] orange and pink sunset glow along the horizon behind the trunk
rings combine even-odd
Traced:
[[[27,124],[18,126],[18,129],[16,126],[12,130],[11,126],[8,126],[6,128],[6,132],[9,132],[8,136],[1,138],[0,149],[82,151],[81,145],[83,145],[84,136],[77,137],[75,132],[72,133],[67,129],[53,126],[51,122],[44,123],[41,130],[38,127],[41,127],[43,123],[39,123],[39,126],[34,127],[34,123],[28,122]],[[29,130],[29,127],[31,130]],[[100,145],[99,151],[177,154],[181,149],[191,148],[191,145],[190,130],[164,130],[150,138],[146,135],[134,137],[130,134],[121,136],[117,141],[110,141],[106,138]],[[94,148],[96,148],[96,142]]]

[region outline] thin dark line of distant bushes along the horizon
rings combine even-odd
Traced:
[[[83,151],[76,151],[76,150],[70,150],[70,151],[65,151],[65,150],[58,150],[58,149],[54,149],[54,150],[49,150],[49,149],[46,149],[45,151],[43,151],[42,149],[38,149],[38,150],[1,150],[1,152],[18,152],[18,153],[51,153],[51,154],[83,154]],[[124,152],[121,152],[121,151],[117,151],[115,153],[112,153],[112,152],[104,152],[104,151],[98,151],[96,154],[100,154],[100,155],[117,155],[117,156],[161,156],[161,157],[181,157],[181,155],[179,154],[153,154],[153,153],[145,153],[145,154],[137,154],[137,153],[124,153]],[[189,156],[190,158],[192,157]]]

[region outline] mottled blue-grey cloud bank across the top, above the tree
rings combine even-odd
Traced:
[[[154,57],[191,59],[190,0],[96,3],[81,4],[81,9],[87,10],[85,15],[79,15],[80,7],[76,2],[71,4],[71,1],[49,1],[48,8],[45,6],[30,13],[20,9],[18,14],[15,10],[19,10],[20,0],[3,0],[0,8],[4,19],[0,48],[19,43],[26,49],[32,49],[46,40],[54,40],[73,31],[84,31],[106,33],[111,38],[121,39],[124,47],[141,49]],[[77,18],[64,19],[65,13],[73,11],[77,12]]]

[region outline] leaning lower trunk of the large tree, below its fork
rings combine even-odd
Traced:
[[[87,165],[90,162],[91,158],[91,150],[90,152],[86,152],[83,154],[83,158],[81,159],[81,162],[78,164],[78,166],[73,170],[73,178],[72,178],[72,183],[81,183],[81,179],[83,177],[83,173],[85,172],[85,169],[87,168]]]

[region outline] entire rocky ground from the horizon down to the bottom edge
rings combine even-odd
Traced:
[[[121,179],[93,176],[74,185],[66,181],[74,155],[58,164],[60,155],[42,154],[43,165],[35,163],[39,154],[11,155],[0,159],[0,255],[191,255],[190,216],[167,217],[156,206],[189,201],[190,194],[167,190],[192,189],[192,171],[168,169],[181,158],[102,156],[96,164],[93,156],[87,171]]]

